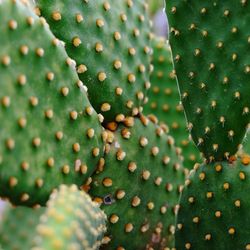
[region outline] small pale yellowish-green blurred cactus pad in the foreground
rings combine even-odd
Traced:
[[[106,215],[99,204],[76,185],[61,185],[50,196],[46,212],[37,226],[32,250],[95,250],[106,231]]]

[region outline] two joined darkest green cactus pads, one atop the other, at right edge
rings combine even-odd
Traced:
[[[197,164],[186,180],[176,249],[250,249],[250,158],[235,155],[249,126],[250,57],[245,53],[249,46],[245,30],[250,5],[184,0],[166,1],[166,5],[188,127],[207,160]]]

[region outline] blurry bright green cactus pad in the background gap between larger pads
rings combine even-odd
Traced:
[[[176,146],[182,149],[183,165],[191,169],[200,161],[199,150],[189,139],[187,123],[180,104],[176,76],[173,70],[171,49],[164,38],[154,37],[152,42],[154,70],[151,74],[151,88],[144,114],[155,114],[160,122],[168,125],[170,134],[175,138]]]

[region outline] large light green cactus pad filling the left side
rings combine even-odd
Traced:
[[[0,30],[0,195],[43,205],[61,183],[88,180],[103,153],[102,127],[43,18],[1,1]]]

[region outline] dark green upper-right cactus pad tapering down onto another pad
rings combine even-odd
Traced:
[[[209,161],[228,159],[250,120],[250,4],[172,0],[166,7],[193,140]]]

